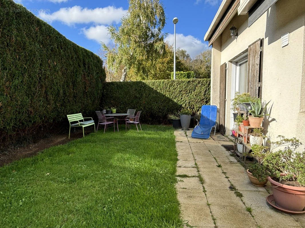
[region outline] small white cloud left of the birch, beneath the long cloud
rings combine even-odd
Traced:
[[[84,33],[89,40],[95,40],[98,43],[102,41],[107,44],[110,41],[110,37],[106,28],[107,27],[103,25],[92,26],[89,29],[83,28],[82,33]]]

